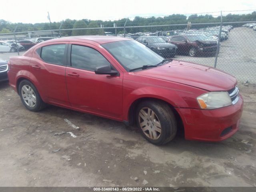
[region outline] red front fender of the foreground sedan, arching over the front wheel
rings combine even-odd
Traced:
[[[131,104],[140,98],[157,98],[178,108],[198,108],[195,98],[205,92],[184,84],[138,76],[133,72],[124,73],[123,119],[128,120]]]

